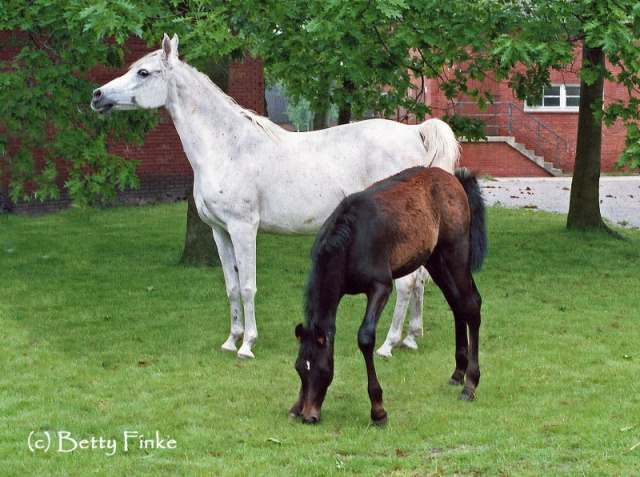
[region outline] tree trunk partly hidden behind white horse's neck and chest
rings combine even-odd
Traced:
[[[225,93],[229,90],[229,61],[210,62],[203,71]],[[218,248],[213,240],[211,227],[206,225],[196,209],[193,200],[193,187],[189,188],[187,208],[187,233],[180,263],[183,265],[214,267],[220,265]]]

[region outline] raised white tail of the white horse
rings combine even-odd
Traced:
[[[427,150],[426,167],[439,167],[453,174],[460,159],[460,143],[447,123],[440,119],[427,119],[418,126]]]

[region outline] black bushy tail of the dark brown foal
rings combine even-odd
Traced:
[[[471,225],[469,227],[471,252],[471,270],[479,270],[487,255],[487,228],[485,224],[484,199],[478,185],[478,179],[468,169],[457,169],[455,176],[462,184],[471,210]]]

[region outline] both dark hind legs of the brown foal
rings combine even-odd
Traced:
[[[468,249],[466,254],[464,249],[457,253],[453,249],[440,249],[431,256],[427,269],[433,281],[444,293],[455,321],[456,369],[449,382],[464,382],[460,399],[470,401],[475,398],[475,390],[480,382],[478,339],[482,299],[468,263],[455,259],[461,256],[468,256]]]

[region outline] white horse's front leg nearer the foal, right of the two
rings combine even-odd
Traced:
[[[227,226],[236,256],[240,297],[244,306],[244,337],[238,358],[255,358],[251,349],[258,340],[256,325],[256,235],[257,222],[234,222]]]

